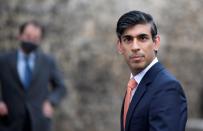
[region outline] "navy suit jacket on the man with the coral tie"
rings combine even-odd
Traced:
[[[158,62],[145,74],[132,98],[121,131],[185,131],[187,103],[180,83]]]

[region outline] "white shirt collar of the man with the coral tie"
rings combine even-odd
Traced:
[[[147,73],[147,71],[158,62],[157,57],[154,58],[154,60],[140,73],[138,73],[137,75],[133,76],[132,73],[130,75],[130,78],[134,78],[136,80],[136,82],[139,84],[140,81],[142,80],[142,78],[144,77],[144,75]]]

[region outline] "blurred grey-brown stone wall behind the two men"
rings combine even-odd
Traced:
[[[129,10],[154,16],[161,34],[159,60],[181,81],[189,117],[202,117],[202,0],[1,0],[0,51],[18,46],[18,26],[30,19],[46,27],[42,49],[54,55],[69,95],[56,111],[57,131],[119,130],[127,65],[116,52],[115,26]]]

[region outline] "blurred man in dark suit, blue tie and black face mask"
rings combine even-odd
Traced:
[[[20,48],[0,56],[0,131],[49,131],[65,86],[54,59],[40,51],[43,27],[20,27]],[[51,85],[51,86],[50,86]]]

